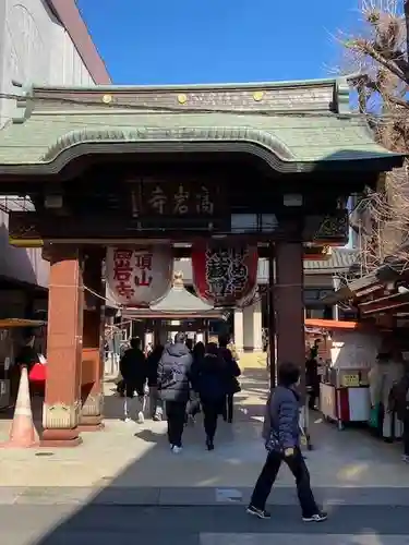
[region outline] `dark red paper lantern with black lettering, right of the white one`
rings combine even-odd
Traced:
[[[216,306],[240,305],[257,286],[256,246],[195,244],[193,283],[200,298]]]

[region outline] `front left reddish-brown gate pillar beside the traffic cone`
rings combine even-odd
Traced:
[[[43,444],[76,446],[84,305],[79,249],[55,246],[50,265]]]

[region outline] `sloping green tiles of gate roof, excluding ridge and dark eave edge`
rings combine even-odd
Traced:
[[[0,132],[0,165],[46,164],[81,143],[252,142],[282,161],[393,157],[359,116],[236,113],[34,113]]]

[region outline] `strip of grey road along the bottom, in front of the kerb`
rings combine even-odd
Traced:
[[[404,545],[407,508],[342,506],[320,524],[294,507],[275,507],[270,521],[242,507],[14,506],[0,509],[2,545]]]

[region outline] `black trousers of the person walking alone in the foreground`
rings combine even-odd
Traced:
[[[316,514],[320,509],[315,504],[310,485],[310,473],[299,448],[296,449],[294,456],[287,458],[285,458],[280,452],[269,452],[255,484],[251,498],[251,505],[257,509],[265,509],[267,498],[272,492],[272,487],[277,477],[282,460],[287,463],[291,473],[296,477],[298,499],[300,501],[302,516],[311,517],[312,514]]]

